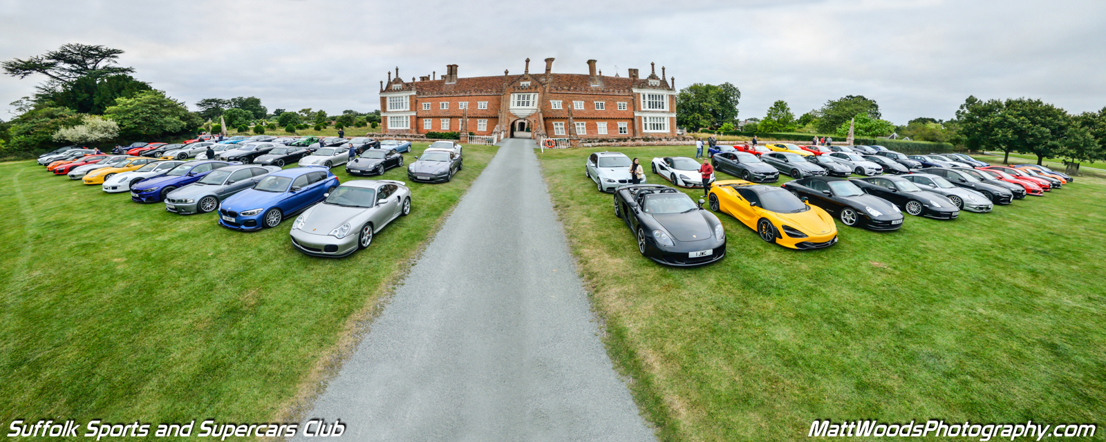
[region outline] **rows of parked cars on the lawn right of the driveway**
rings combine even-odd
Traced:
[[[741,179],[716,180],[712,173],[707,198],[698,202],[669,186],[645,179],[632,183],[632,160],[622,152],[592,154],[585,175],[599,191],[614,192],[614,214],[634,232],[638,251],[676,266],[708,264],[726,255],[724,229],[714,212],[730,214],[765,242],[810,250],[837,242],[836,221],[894,231],[901,228],[904,212],[954,220],[961,210],[989,212],[995,204],[1042,196],[1074,181],[1043,166],[991,166],[962,154],[908,156],[877,146],[716,146],[709,154],[714,173]],[[869,156],[888,162],[863,164]],[[818,162],[831,158],[824,165],[848,169]],[[885,167],[891,161],[901,170]],[[650,164],[655,175],[675,186],[703,187],[700,165],[692,158],[654,158]],[[795,179],[780,187],[765,185],[778,181],[780,173]]]

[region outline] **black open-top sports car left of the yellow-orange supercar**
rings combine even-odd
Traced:
[[[668,186],[627,185],[615,189],[615,217],[637,236],[641,255],[661,264],[692,266],[726,256],[721,221],[687,193]]]

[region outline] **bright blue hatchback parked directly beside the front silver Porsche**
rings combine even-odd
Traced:
[[[269,173],[253,188],[222,200],[219,225],[242,231],[274,228],[284,218],[322,201],[337,186],[338,178],[322,166]]]

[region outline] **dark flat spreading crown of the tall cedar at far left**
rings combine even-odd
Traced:
[[[50,94],[64,88],[81,77],[100,77],[129,74],[133,67],[116,64],[123,50],[102,44],[63,44],[56,51],[35,55],[27,60],[12,59],[0,63],[4,73],[17,78],[42,74],[48,80],[38,86],[40,93]]]

